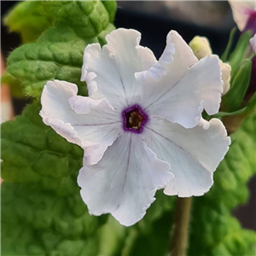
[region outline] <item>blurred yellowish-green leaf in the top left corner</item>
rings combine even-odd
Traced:
[[[23,44],[26,44],[38,39],[52,26],[53,20],[44,12],[41,0],[26,0],[18,3],[4,17],[4,24],[9,26],[10,32],[20,33]]]

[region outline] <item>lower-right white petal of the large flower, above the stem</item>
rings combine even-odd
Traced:
[[[219,119],[211,119],[193,129],[165,119],[151,119],[143,140],[160,160],[171,165],[174,178],[166,185],[166,195],[203,195],[212,186],[214,172],[230,145],[230,137]],[[205,130],[207,129],[207,130]]]

